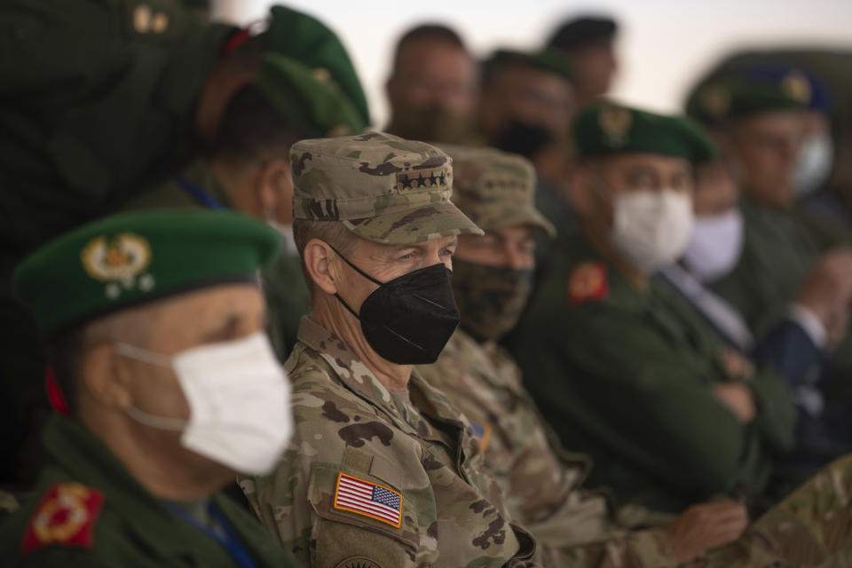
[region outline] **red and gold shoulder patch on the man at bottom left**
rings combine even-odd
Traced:
[[[103,504],[103,493],[85,485],[74,482],[51,485],[29,519],[21,554],[53,544],[91,548],[95,522]]]

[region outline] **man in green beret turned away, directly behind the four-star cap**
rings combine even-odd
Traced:
[[[332,32],[319,31],[313,41],[327,42],[324,35]],[[316,73],[327,67],[329,59],[349,60],[345,51],[330,50],[322,52],[322,59],[304,63],[280,54],[264,55],[256,78],[237,91],[225,109],[209,156],[126,206],[237,209],[279,230],[284,247],[263,274],[270,335],[281,361],[296,344],[299,319],[310,311],[291,227],[290,146],[300,138],[355,133],[367,127],[336,84]]]

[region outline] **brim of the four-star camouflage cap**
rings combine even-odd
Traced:
[[[485,234],[449,201],[341,223],[362,239],[390,245],[410,245],[458,234]]]

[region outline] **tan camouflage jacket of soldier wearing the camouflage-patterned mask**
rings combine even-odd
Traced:
[[[662,531],[619,528],[603,495],[580,490],[588,458],[549,434],[507,351],[458,329],[438,362],[418,371],[469,419],[509,513],[539,541],[542,564],[677,564]]]

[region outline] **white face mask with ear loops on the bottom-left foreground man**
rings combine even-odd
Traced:
[[[173,369],[189,404],[189,420],[134,407],[131,418],[152,428],[183,430],[182,446],[234,471],[263,475],[275,466],[293,429],[290,383],[264,333],[171,358],[127,343],[116,343],[115,350]]]

